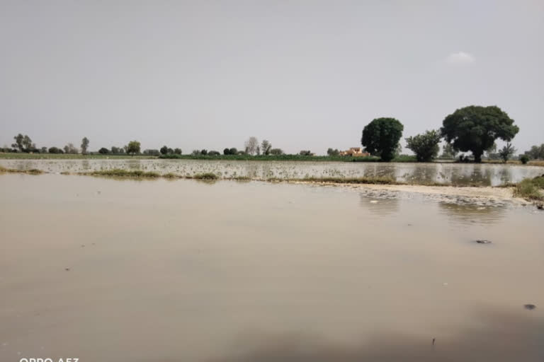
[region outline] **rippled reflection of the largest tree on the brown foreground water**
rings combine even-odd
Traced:
[[[506,214],[506,207],[480,206],[439,202],[441,214],[454,218],[458,223],[498,223]]]

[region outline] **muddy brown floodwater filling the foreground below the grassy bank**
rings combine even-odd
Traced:
[[[0,175],[0,361],[543,361],[544,214],[404,196]]]

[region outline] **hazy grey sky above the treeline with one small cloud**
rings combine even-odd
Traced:
[[[0,0],[0,146],[324,153],[498,105],[544,142],[544,1]]]

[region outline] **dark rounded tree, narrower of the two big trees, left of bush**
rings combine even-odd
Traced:
[[[404,126],[395,118],[376,118],[363,129],[361,144],[384,161],[395,158]]]

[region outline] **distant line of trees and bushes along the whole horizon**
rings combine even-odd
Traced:
[[[244,148],[238,150],[235,147],[224,148],[223,151],[208,149],[193,150],[188,155],[183,155],[181,148],[162,146],[159,149],[145,149],[141,151],[139,141],[130,141],[126,146],[100,148],[98,154],[102,155],[144,155],[158,156],[161,158],[198,158],[198,159],[222,159],[234,160],[307,160],[314,157],[316,160],[350,160],[361,162],[391,161],[391,160],[417,160],[429,162],[438,158],[439,144],[445,141],[442,154],[439,158],[455,159],[461,162],[481,162],[482,158],[489,160],[503,160],[506,162],[514,156],[516,148],[510,143],[519,132],[519,127],[514,124],[506,112],[497,106],[471,105],[455,110],[443,119],[440,129],[431,129],[423,134],[405,138],[407,148],[414,152],[415,156],[402,156],[400,139],[404,125],[398,119],[382,117],[373,119],[363,129],[361,145],[365,153],[341,152],[337,148],[329,148],[327,156],[315,156],[310,150],[302,150],[297,154],[285,154],[281,148],[272,148],[268,140],[259,143],[254,136],[249,137]],[[28,135],[18,134],[14,136],[15,142],[11,148],[0,148],[0,152],[26,152],[26,153],[80,153],[96,154],[89,152],[89,139],[81,140],[81,147],[67,144],[60,148],[56,146],[37,148]],[[497,150],[495,141],[501,139],[506,146]],[[358,149],[358,148],[353,148]],[[464,152],[470,152],[470,157]],[[347,156],[340,156],[341,154]],[[366,156],[370,154],[371,156]],[[350,156],[351,155],[351,156]],[[519,160],[527,163],[530,159],[544,159],[544,144],[533,146],[529,151],[519,155]]]

